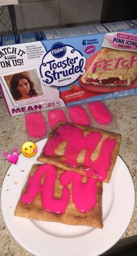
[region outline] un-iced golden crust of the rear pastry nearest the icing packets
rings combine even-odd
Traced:
[[[51,138],[55,135],[56,130],[58,129],[58,127],[60,125],[66,125],[66,123],[60,122],[55,127],[55,129],[52,130],[52,132],[49,134],[49,137],[48,137],[48,140],[46,141],[46,143],[48,143],[48,141],[51,140]],[[109,183],[111,173],[112,173],[114,165],[116,163],[118,151],[119,151],[119,148],[120,148],[121,135],[117,134],[117,133],[110,132],[110,131],[95,129],[95,128],[89,127],[89,126],[74,125],[74,124],[69,124],[69,125],[79,127],[80,129],[82,129],[84,131],[84,134],[86,134],[88,132],[91,132],[91,131],[100,131],[103,135],[103,138],[110,137],[111,139],[116,139],[116,146],[114,147],[114,150],[111,154],[111,165],[110,165],[110,168],[107,172],[107,177],[104,180],[104,182]],[[91,141],[91,143],[92,143],[92,141]],[[100,147],[101,147],[101,145],[100,145]],[[82,158],[82,154],[81,154],[81,158]],[[62,169],[65,169],[65,170],[73,170],[74,172],[78,172],[81,175],[85,175],[84,169],[86,168],[86,166],[83,165],[82,159],[81,159],[81,161],[79,160],[79,162],[81,162],[81,163],[78,163],[77,167],[70,166],[68,163],[64,163],[63,160],[64,160],[64,157],[62,155],[60,155],[60,151],[58,151],[58,152],[56,151],[55,157],[51,157],[49,155],[45,155],[45,152],[42,150],[41,154],[37,158],[37,161],[39,161],[39,162],[51,163],[52,165],[55,165],[59,168],[62,168]],[[93,177],[96,179],[96,176],[93,176]]]

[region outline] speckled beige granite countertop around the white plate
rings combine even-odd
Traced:
[[[1,97],[1,95],[0,95]],[[135,192],[137,198],[137,179],[136,179],[136,152],[137,152],[137,97],[130,96],[125,98],[109,99],[105,101],[111,113],[113,113],[117,126],[114,127],[115,132],[122,135],[119,155],[127,164],[132,179],[135,184]],[[0,174],[1,184],[4,179],[6,170],[10,163],[2,156],[4,151],[12,152],[14,147],[20,149],[21,145],[27,141],[26,128],[24,126],[24,115],[10,117],[4,104],[3,98],[0,98]],[[128,189],[128,188],[127,188]],[[124,217],[124,216],[123,216]],[[137,235],[137,202],[135,202],[135,210],[131,222],[121,237],[120,241],[124,239],[136,237]],[[0,214],[0,255],[2,256],[30,256],[31,254],[24,250],[8,232],[3,221],[2,214]],[[73,256],[73,255],[72,255]]]

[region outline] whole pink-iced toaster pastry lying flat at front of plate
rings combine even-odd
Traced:
[[[102,183],[53,165],[35,164],[15,216],[102,228]]]

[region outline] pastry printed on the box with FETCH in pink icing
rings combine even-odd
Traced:
[[[95,86],[131,86],[136,77],[136,52],[102,48],[81,80]]]

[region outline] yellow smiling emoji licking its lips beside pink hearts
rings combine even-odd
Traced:
[[[32,141],[27,141],[22,145],[21,152],[25,157],[34,157],[37,153],[37,145]]]

